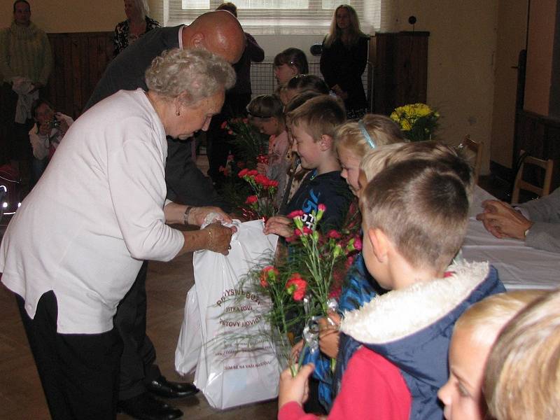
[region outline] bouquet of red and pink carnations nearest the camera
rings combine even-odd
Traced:
[[[355,231],[323,233],[317,229],[324,211],[325,206],[319,204],[312,212],[316,223],[311,228],[304,226],[302,211],[289,214],[294,230],[287,239],[288,252],[255,267],[243,286],[272,302],[268,314],[270,336],[279,358],[289,361],[293,374],[298,362],[291,360],[291,346],[303,338],[304,346],[318,351],[316,321],[336,310],[335,297],[344,278],[345,262],[361,249],[361,239]]]

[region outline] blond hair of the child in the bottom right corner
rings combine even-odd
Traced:
[[[491,350],[482,387],[498,420],[556,419],[560,413],[560,291],[521,310]]]

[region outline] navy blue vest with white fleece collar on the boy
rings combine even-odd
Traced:
[[[347,312],[341,323],[349,336],[348,344],[341,339],[342,347],[362,344],[399,368],[412,396],[410,419],[442,419],[437,390],[449,374],[447,353],[455,321],[471,304],[505,292],[498,272],[487,262],[461,262],[449,272],[443,279],[374,297]],[[350,356],[342,357],[344,365]]]

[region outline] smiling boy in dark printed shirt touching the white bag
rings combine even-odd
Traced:
[[[317,210],[318,204],[325,204],[321,230],[339,228],[351,199],[346,182],[340,176],[334,144],[335,130],[346,120],[344,106],[334,97],[322,94],[289,112],[286,119],[301,165],[311,169],[288,202],[286,214],[302,210],[304,226],[311,228],[315,223],[311,212]],[[292,223],[292,219],[285,216],[274,216],[268,219],[265,233],[290,237]]]

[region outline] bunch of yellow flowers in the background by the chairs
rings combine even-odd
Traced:
[[[391,120],[398,124],[409,141],[430,140],[439,118],[440,114],[426,104],[399,106],[391,113]]]

